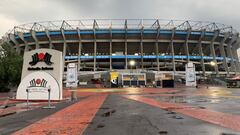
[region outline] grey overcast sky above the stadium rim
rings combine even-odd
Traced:
[[[240,30],[240,0],[1,0],[0,37],[16,25],[64,19],[213,21]]]

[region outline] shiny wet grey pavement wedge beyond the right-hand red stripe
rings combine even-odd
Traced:
[[[185,88],[178,92],[143,95],[161,102],[181,103],[198,108],[207,108],[229,114],[239,115],[240,90],[222,87],[208,89]]]

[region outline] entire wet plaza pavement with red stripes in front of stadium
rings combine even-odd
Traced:
[[[240,135],[240,89],[200,86],[75,91],[78,101],[57,103],[56,109],[36,107],[0,117],[0,135]],[[70,96],[70,91],[64,93],[65,98]]]

